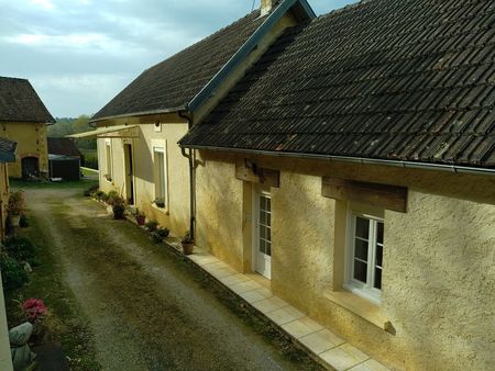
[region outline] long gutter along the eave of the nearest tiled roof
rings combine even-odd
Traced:
[[[271,151],[271,150],[257,150],[257,149],[245,149],[245,148],[226,148],[226,147],[209,147],[209,146],[188,146],[180,145],[182,148],[191,149],[207,149],[217,151],[228,151],[228,153],[239,153],[239,154],[250,154],[260,156],[271,156],[271,157],[290,157],[290,158],[307,158],[307,159],[318,159],[318,160],[336,160],[341,162],[361,164],[361,165],[384,165],[398,167],[404,169],[421,169],[421,170],[437,170],[453,173],[466,173],[476,176],[495,176],[495,169],[487,168],[474,168],[458,165],[444,165],[444,164],[428,164],[428,162],[413,162],[404,160],[385,160],[378,158],[365,158],[365,157],[352,157],[352,156],[333,156],[333,155],[314,155],[314,154],[297,154],[287,151]]]

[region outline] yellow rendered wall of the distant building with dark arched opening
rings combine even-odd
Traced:
[[[1,136],[18,143],[18,160],[9,164],[9,175],[22,177],[21,161],[24,157],[36,157],[40,170],[48,173],[48,145],[46,142],[46,124],[44,123],[2,123]]]

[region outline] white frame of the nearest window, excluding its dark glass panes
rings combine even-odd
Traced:
[[[366,262],[366,283],[354,279],[354,249],[355,249],[355,221],[356,217],[365,218],[370,222],[369,228],[369,250]],[[374,214],[363,213],[355,209],[348,211],[348,235],[345,244],[345,277],[343,288],[351,291],[353,294],[366,299],[374,304],[382,303],[382,290],[374,288],[375,282],[375,261],[376,261],[376,245],[377,245],[377,226],[378,223],[384,224],[384,218]],[[385,227],[385,224],[384,224]],[[383,241],[384,243],[384,241]],[[382,251],[383,251],[383,245]],[[383,286],[383,257],[382,257],[382,286]]]

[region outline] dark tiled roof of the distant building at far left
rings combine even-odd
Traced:
[[[54,123],[30,81],[0,77],[0,121]]]

